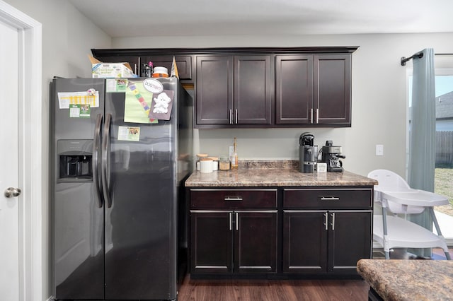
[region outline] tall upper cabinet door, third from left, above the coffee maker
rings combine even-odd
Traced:
[[[277,55],[275,124],[311,124],[313,113],[313,55]]]

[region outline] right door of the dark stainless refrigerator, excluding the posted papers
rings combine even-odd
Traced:
[[[176,89],[174,78],[163,83]],[[177,102],[170,120],[141,124],[124,122],[125,93],[106,95],[111,206],[105,208],[105,299],[176,299]],[[120,126],[138,129],[138,141],[118,139]]]

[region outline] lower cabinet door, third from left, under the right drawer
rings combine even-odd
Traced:
[[[283,273],[326,273],[326,211],[283,211]]]

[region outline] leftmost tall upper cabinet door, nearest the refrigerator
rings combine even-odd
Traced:
[[[197,56],[197,124],[231,124],[233,57]]]

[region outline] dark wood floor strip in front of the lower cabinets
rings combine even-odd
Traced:
[[[178,301],[368,300],[362,280],[191,280],[186,276]]]

